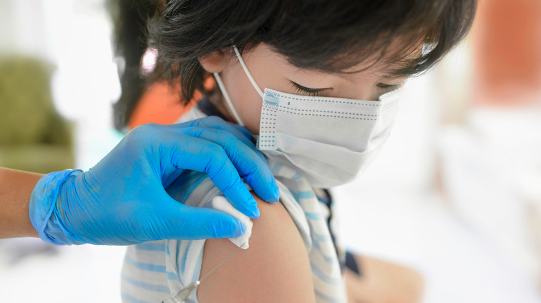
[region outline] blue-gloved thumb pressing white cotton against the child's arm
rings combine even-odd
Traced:
[[[168,198],[155,224],[164,239],[234,238],[246,232],[243,223],[230,214],[190,207]]]

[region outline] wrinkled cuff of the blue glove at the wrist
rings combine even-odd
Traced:
[[[54,212],[62,183],[82,173],[80,169],[51,172],[40,178],[35,185],[28,203],[28,213],[32,225],[43,241],[54,245],[83,244],[69,237],[71,233],[66,230]]]

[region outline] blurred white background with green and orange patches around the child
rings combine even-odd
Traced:
[[[0,166],[88,169],[121,139],[103,0],[0,1]],[[541,1],[480,0],[409,80],[393,134],[333,190],[348,249],[416,270],[424,300],[541,302]],[[124,248],[0,240],[0,302],[119,302]]]

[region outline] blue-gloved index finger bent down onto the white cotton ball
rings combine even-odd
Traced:
[[[171,152],[173,167],[206,172],[237,210],[248,217],[259,217],[257,202],[241,182],[239,172],[223,147],[202,138],[187,134],[182,134],[179,138],[179,135],[171,133],[163,134],[162,138],[153,144]]]

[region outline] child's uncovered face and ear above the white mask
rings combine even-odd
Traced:
[[[405,77],[384,77],[386,71],[393,66],[381,63],[363,62],[350,69],[358,72],[347,74],[298,68],[265,44],[259,44],[249,52],[243,53],[243,59],[261,91],[268,88],[297,95],[317,94],[324,97],[377,100],[380,95],[393,89],[388,86],[400,85],[405,80]],[[246,128],[252,134],[259,134],[262,99],[248,80],[234,53],[230,55],[214,52],[203,57],[200,62],[210,73],[220,73],[225,89]],[[311,92],[303,91],[295,84]],[[315,89],[318,91],[314,91]],[[225,114],[234,121],[229,109]]]

